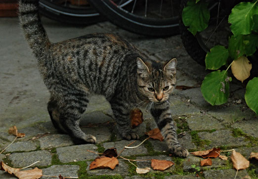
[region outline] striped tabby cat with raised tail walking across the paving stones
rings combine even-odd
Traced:
[[[147,104],[170,151],[186,157],[177,142],[169,95],[175,85],[176,59],[148,59],[128,41],[113,34],[90,34],[51,43],[38,13],[38,0],[20,0],[19,19],[44,84],[50,92],[47,110],[53,125],[76,144],[95,143],[79,121],[90,94],[109,101],[118,131],[127,140],[139,139],[130,129],[131,109]]]

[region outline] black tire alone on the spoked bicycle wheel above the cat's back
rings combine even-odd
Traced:
[[[129,13],[118,8],[113,0],[88,0],[88,2],[112,23],[128,31],[157,37],[179,34],[178,16],[157,20]]]

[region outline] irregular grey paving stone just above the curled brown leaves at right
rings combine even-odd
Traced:
[[[211,143],[205,148],[212,148],[218,146],[242,146],[247,145],[245,137],[233,137],[230,130],[216,130],[215,132],[199,132],[198,135],[202,140],[210,140]]]

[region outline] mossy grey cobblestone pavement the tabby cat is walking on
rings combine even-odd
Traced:
[[[239,83],[231,85],[228,102],[213,107],[202,97],[200,84],[206,75],[205,67],[198,65],[187,55],[180,36],[150,38],[122,30],[109,22],[88,27],[70,27],[43,18],[43,25],[52,42],[78,37],[88,33],[112,32],[134,43],[150,58],[178,59],[177,85],[195,86],[188,90],[174,90],[171,96],[173,119],[177,123],[178,140],[189,151],[220,147],[236,149],[249,158],[250,153],[258,152],[258,119],[247,108],[244,100],[245,89]],[[122,156],[130,159],[164,159],[175,163],[170,169],[159,172],[151,170],[145,175],[137,175],[135,167],[128,161],[119,159],[114,170],[89,170],[89,164],[98,155],[86,149],[103,152],[116,147],[118,151],[131,141],[117,135],[110,105],[102,96],[92,96],[82,120],[82,128],[97,138],[97,143],[75,146],[71,138],[59,134],[53,127],[46,103],[49,98],[43,80],[18,26],[17,18],[0,18],[0,150],[15,137],[7,130],[16,125],[19,132],[26,134],[19,138],[0,159],[13,167],[25,167],[36,161],[43,175],[67,177],[79,176],[81,179],[195,179],[196,167],[201,158],[189,155],[186,159],[169,156],[164,142],[149,139],[142,146],[126,149]],[[241,100],[241,102],[239,101]],[[156,127],[148,113],[144,112],[144,122],[134,130],[146,138],[144,132]],[[36,139],[35,139],[36,137]],[[140,141],[137,141],[139,143]],[[230,153],[225,153],[230,155]],[[150,167],[149,161],[134,162],[139,168]],[[193,167],[195,165],[196,167]],[[245,176],[257,178],[258,164],[252,162],[247,170],[239,171],[237,179]],[[235,170],[231,161],[213,159],[213,165],[200,167],[199,176],[203,179],[233,179]],[[105,176],[103,176],[105,175]],[[15,179],[0,171],[0,179]],[[46,179],[42,177],[42,179]]]

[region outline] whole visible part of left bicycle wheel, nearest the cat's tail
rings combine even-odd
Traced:
[[[42,15],[68,24],[89,25],[105,20],[86,0],[40,0],[39,7]]]

